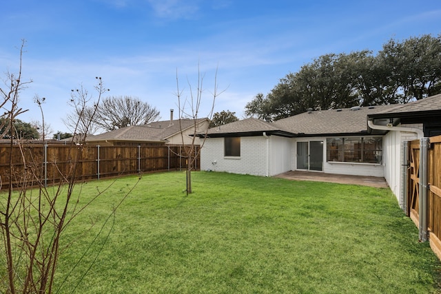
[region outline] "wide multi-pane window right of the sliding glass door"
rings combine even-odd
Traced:
[[[327,161],[382,163],[382,137],[327,138]]]

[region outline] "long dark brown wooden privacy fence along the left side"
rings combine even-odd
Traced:
[[[72,176],[75,164],[77,180],[186,169],[184,148],[182,145],[13,145],[11,150],[11,146],[3,145],[0,146],[1,189],[8,187],[10,178],[14,186],[24,183],[34,186],[38,182],[47,186],[66,180]],[[194,169],[200,168],[199,162],[196,158]]]

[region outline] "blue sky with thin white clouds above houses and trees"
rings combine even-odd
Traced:
[[[441,1],[16,0],[0,4],[0,71],[16,72],[25,39],[20,119],[68,132],[70,90],[93,92],[101,76],[109,95],[136,96],[167,120],[204,75],[200,116],[218,90],[214,112],[243,118],[247,102],[286,74],[327,53],[381,50],[389,39],[441,33]],[[2,76],[4,78],[4,75]],[[1,84],[3,87],[3,83]]]

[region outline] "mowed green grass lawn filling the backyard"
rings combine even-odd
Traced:
[[[438,291],[440,262],[389,189],[192,176],[186,196],[185,173],[144,175],[102,228],[138,178],[117,180],[66,233],[59,293]],[[83,200],[109,184],[82,185]]]

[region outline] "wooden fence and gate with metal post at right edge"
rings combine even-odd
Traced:
[[[441,259],[441,136],[409,144],[407,214]]]

